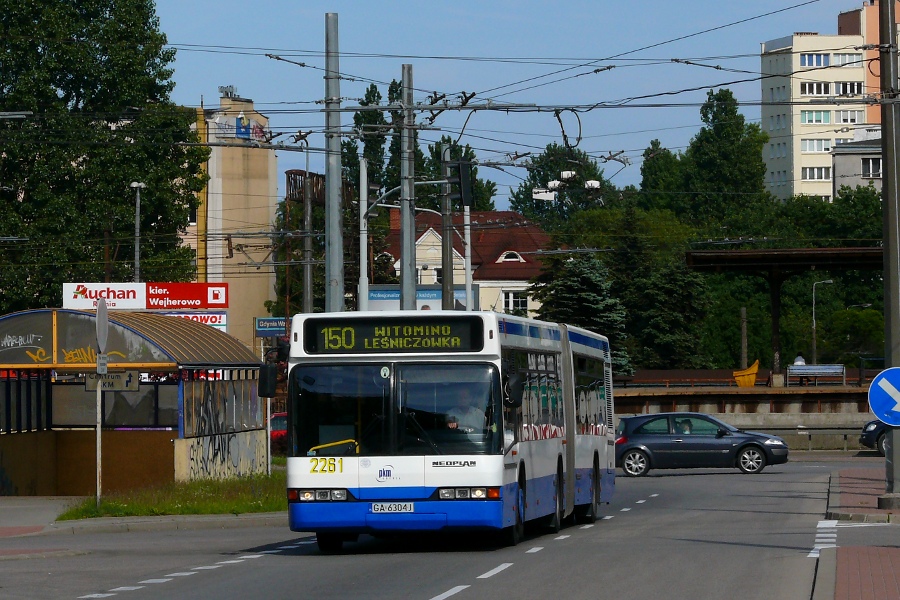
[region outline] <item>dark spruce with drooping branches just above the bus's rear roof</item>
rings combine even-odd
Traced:
[[[612,279],[602,262],[585,255],[551,259],[529,286],[528,294],[541,303],[539,319],[605,335],[615,373],[633,372],[625,345],[625,309],[612,293]]]

